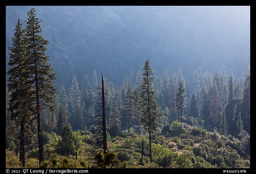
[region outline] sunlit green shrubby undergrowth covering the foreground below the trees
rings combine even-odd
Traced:
[[[26,147],[26,168],[99,168],[94,157],[90,158],[92,134],[89,131],[74,131],[74,149],[69,155],[59,150],[61,137],[54,132],[44,132],[44,162],[39,166],[36,143]],[[107,168],[249,168],[250,136],[244,132],[235,138],[208,132],[177,121],[156,132],[152,137],[152,163],[148,157],[148,135],[138,135],[131,128],[119,135],[108,135],[108,150],[114,159],[108,159]],[[144,151],[142,156],[142,144]],[[78,148],[76,148],[78,147]],[[65,147],[63,147],[65,148]],[[67,147],[68,148],[68,147]],[[6,149],[6,167],[20,168],[19,155],[9,143]],[[65,150],[65,149],[62,149]],[[70,150],[70,149],[69,149]],[[75,159],[77,152],[77,159]],[[99,154],[101,152],[99,151]],[[103,159],[103,156],[100,158]],[[106,159],[107,160],[107,159]],[[114,160],[115,165],[112,163]],[[102,162],[102,164],[104,161]]]

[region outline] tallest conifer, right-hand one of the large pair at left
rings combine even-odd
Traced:
[[[29,95],[34,103],[34,114],[36,114],[37,120],[37,137],[38,137],[38,153],[39,164],[44,160],[43,158],[43,143],[42,143],[42,131],[40,124],[40,112],[49,107],[49,112],[53,114],[55,112],[54,97],[56,97],[56,89],[53,86],[53,80],[55,80],[55,74],[52,73],[51,66],[47,63],[48,56],[45,55],[46,45],[48,40],[44,39],[40,33],[42,32],[40,27],[40,21],[36,18],[36,11],[32,8],[28,12],[27,26],[25,29],[25,72],[29,79],[28,85],[32,90],[29,91]],[[27,92],[28,93],[28,92]]]

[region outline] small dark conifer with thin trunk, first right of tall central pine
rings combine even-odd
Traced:
[[[175,104],[176,104],[176,108],[178,110],[180,110],[180,123],[182,123],[182,109],[186,108],[186,89],[182,83],[182,81],[180,81],[180,86],[176,91],[176,98],[175,98]]]

